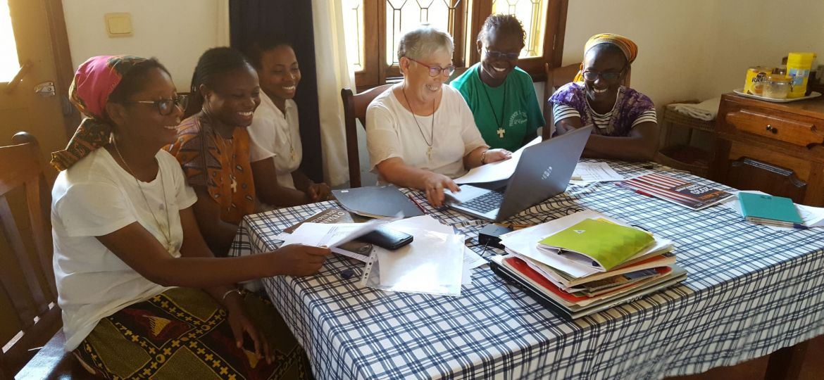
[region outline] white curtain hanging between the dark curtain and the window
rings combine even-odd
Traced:
[[[312,0],[317,65],[317,102],[321,119],[321,148],[326,183],[349,182],[344,134],[344,104],[340,89],[354,87],[354,72],[346,60],[344,20],[339,0]]]

